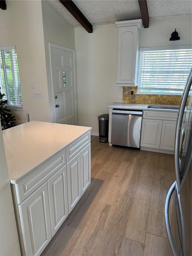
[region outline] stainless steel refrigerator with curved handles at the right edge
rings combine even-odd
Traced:
[[[175,256],[192,255],[191,250],[191,124],[192,124],[192,68],[188,75],[176,123],[175,135],[175,173],[176,181],[168,191],[165,203],[165,222],[167,235]],[[183,116],[186,118],[183,122]],[[180,137],[182,143],[180,145]],[[173,239],[170,228],[169,205],[170,198],[174,198],[174,214],[176,219],[176,239]]]

